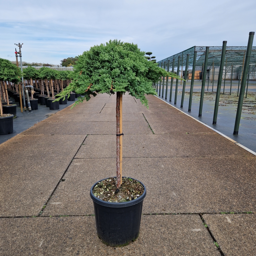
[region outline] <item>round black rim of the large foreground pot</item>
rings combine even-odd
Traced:
[[[109,178],[113,178],[113,177],[109,177]],[[105,179],[109,179],[109,178],[105,178]],[[116,176],[114,177],[116,178]],[[127,178],[125,176],[122,176],[122,178]],[[134,179],[134,178],[131,178],[131,177],[128,177],[130,179]],[[108,202],[108,201],[104,201],[104,200],[100,200],[99,198],[95,197],[92,193],[92,189],[98,184],[98,182],[101,182],[102,180],[104,179],[101,179],[101,180],[98,180],[92,187],[91,187],[91,190],[90,190],[90,196],[91,196],[91,199],[93,200],[93,202],[99,204],[99,205],[103,205],[103,206],[106,206],[106,207],[114,207],[114,208],[120,208],[120,207],[128,207],[128,206],[132,206],[132,205],[136,205],[138,204],[139,202],[143,201],[145,196],[146,196],[146,187],[145,185],[140,181],[140,180],[137,180],[138,182],[140,182],[142,184],[142,186],[144,187],[144,192],[143,194],[135,199],[135,200],[131,200],[131,201],[127,201],[127,202],[119,202],[119,203],[116,203],[116,202]]]

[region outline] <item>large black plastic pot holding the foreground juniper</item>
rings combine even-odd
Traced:
[[[125,246],[134,241],[139,235],[146,188],[141,183],[144,187],[144,193],[139,198],[128,202],[115,203],[100,200],[93,195],[92,189],[98,182],[92,186],[90,191],[98,237],[109,246]]]

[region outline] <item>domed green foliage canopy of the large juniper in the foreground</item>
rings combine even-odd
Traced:
[[[61,97],[56,101],[67,94],[69,97],[71,91],[85,96],[78,98],[74,105],[83,100],[88,101],[91,95],[96,96],[96,92],[129,92],[148,106],[145,94],[156,95],[152,82],[158,81],[160,76],[167,75],[180,79],[176,74],[148,61],[145,52],[136,44],[110,40],[106,44],[93,46],[78,56],[74,72],[70,73],[71,83],[58,94]]]

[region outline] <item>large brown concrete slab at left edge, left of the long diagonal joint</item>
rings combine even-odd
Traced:
[[[38,215],[84,135],[17,135],[0,145],[0,217]]]

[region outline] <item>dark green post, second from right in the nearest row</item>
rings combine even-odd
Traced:
[[[221,89],[221,83],[222,83],[222,75],[223,75],[223,67],[224,67],[225,54],[226,54],[226,46],[227,46],[227,41],[223,41],[212,124],[217,124],[217,116],[218,116],[219,101],[220,101],[220,89]]]

